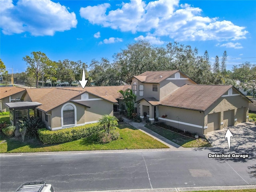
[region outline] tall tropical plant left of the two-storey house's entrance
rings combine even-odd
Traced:
[[[135,112],[134,106],[135,106],[137,96],[132,92],[130,88],[126,89],[125,91],[120,90],[119,92],[122,94],[124,98],[124,103],[126,105],[128,118],[131,118],[132,113]]]

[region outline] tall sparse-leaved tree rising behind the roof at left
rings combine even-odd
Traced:
[[[38,88],[38,80],[46,72],[52,69],[53,62],[42,52],[32,52],[31,57],[26,56],[23,60],[27,63],[27,72],[36,78],[36,88]]]

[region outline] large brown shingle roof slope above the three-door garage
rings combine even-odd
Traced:
[[[205,111],[232,85],[186,84],[160,101],[160,105]]]

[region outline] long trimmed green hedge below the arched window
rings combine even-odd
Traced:
[[[39,139],[43,144],[56,144],[78,140],[97,134],[100,130],[99,123],[87,124],[73,128],[65,128],[57,131],[39,129]]]

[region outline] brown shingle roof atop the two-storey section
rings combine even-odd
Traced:
[[[178,72],[178,70],[173,71],[146,71],[138,76],[134,76],[136,79],[144,83],[160,83],[166,78]],[[162,77],[161,77],[162,76]]]

